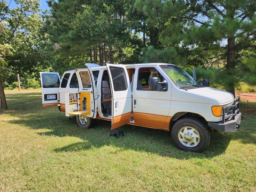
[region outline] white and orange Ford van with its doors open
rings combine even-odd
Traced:
[[[239,97],[207,87],[208,80],[199,82],[176,65],[85,65],[61,79],[40,72],[43,107],[58,106],[85,128],[103,119],[111,130],[125,124],[171,130],[176,146],[188,151],[207,148],[209,130],[239,128]]]

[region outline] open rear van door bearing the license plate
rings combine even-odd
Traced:
[[[57,106],[60,103],[60,75],[59,73],[40,72],[42,87],[42,106]]]

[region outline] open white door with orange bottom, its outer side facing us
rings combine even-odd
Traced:
[[[111,130],[128,124],[132,113],[132,95],[129,76],[124,65],[106,64],[112,93]]]

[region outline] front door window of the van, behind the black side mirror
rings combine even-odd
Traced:
[[[156,70],[156,68],[140,68],[138,75],[137,90],[149,90],[149,80],[151,77],[157,77],[159,82],[163,82],[163,76]],[[162,85],[159,84],[159,89]]]

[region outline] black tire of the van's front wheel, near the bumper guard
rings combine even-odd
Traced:
[[[189,131],[188,135],[185,136],[187,138],[182,138],[182,135],[184,132],[185,132],[185,127],[188,127],[187,128],[187,131]],[[193,128],[195,131],[193,132]],[[184,132],[182,132],[182,130],[184,129]],[[179,134],[179,132],[181,134]],[[199,134],[199,139],[197,137],[195,142],[193,142],[194,140],[194,137],[193,137],[193,133],[194,135],[196,135],[196,132]],[[191,152],[202,152],[204,151],[209,143],[210,143],[210,132],[209,130],[205,127],[205,125],[203,123],[201,123],[199,120],[197,119],[193,119],[193,118],[183,118],[183,119],[180,119],[179,121],[177,121],[173,127],[172,127],[172,140],[173,142],[175,143],[175,145],[179,148],[179,149],[182,149],[182,150],[185,150],[185,151],[191,151]],[[186,135],[186,134],[185,134]],[[179,138],[180,137],[180,138]],[[192,140],[192,138],[193,140]],[[189,138],[191,140],[189,140]],[[182,141],[180,141],[182,140]],[[189,143],[184,140],[187,140],[188,142],[192,141],[192,144],[190,144],[189,146],[190,147],[187,147],[185,146],[186,144],[188,145]],[[196,142],[198,142],[196,144]],[[182,144],[183,143],[183,144]],[[195,145],[193,147],[193,145]]]

